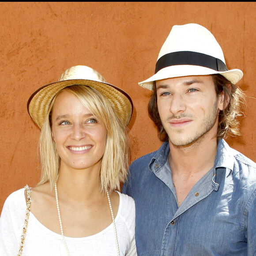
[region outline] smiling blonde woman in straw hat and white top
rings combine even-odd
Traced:
[[[41,181],[4,203],[0,255],[137,255],[134,201],[114,191],[128,170],[130,97],[75,66],[34,92],[28,112],[41,128]]]

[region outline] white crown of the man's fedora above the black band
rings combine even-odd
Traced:
[[[162,45],[158,60],[168,53],[183,51],[213,56],[226,64],[222,49],[213,34],[199,24],[189,23],[173,26],[169,36]]]

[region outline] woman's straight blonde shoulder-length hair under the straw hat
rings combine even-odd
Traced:
[[[41,160],[41,181],[39,184],[49,182],[53,188],[60,170],[60,156],[51,136],[51,113],[55,99],[62,91],[75,94],[95,117],[104,122],[107,138],[100,167],[101,190],[105,192],[104,186],[110,191],[120,190],[120,182],[124,182],[128,172],[129,143],[126,127],[109,100],[98,90],[84,85],[72,85],[60,90],[49,106],[39,139]]]

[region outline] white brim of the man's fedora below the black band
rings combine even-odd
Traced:
[[[220,74],[226,77],[231,83],[236,84],[242,77],[243,72],[240,69],[232,69],[224,72],[219,72],[211,68],[205,68],[196,65],[176,65],[162,68],[149,79],[140,82],[139,85],[152,90],[153,82],[162,79],[189,76],[189,75],[215,75]]]

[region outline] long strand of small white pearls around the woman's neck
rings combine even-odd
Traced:
[[[104,186],[104,188],[105,188],[105,186]],[[107,190],[106,190],[106,194],[107,194],[107,198],[108,198],[108,202],[109,202],[109,209],[110,209],[111,218],[112,218],[113,227],[114,227],[114,233],[115,233],[115,239],[116,239],[116,245],[117,245],[117,255],[120,256],[118,239],[117,239],[117,228],[116,228],[116,223],[115,223],[115,219],[114,219],[114,215],[113,215],[111,201],[110,201],[110,198],[109,198],[109,192]],[[60,207],[59,207],[59,198],[58,198],[58,191],[57,191],[57,181],[55,182],[55,197],[56,197],[56,205],[57,205],[59,221],[60,221],[60,232],[61,232],[61,236],[62,236],[62,241],[64,243],[64,246],[66,248],[68,256],[70,256],[69,255],[69,251],[68,251],[68,245],[67,245],[65,237],[64,237],[63,228],[62,228],[62,222],[61,222],[61,218],[60,218]]]

